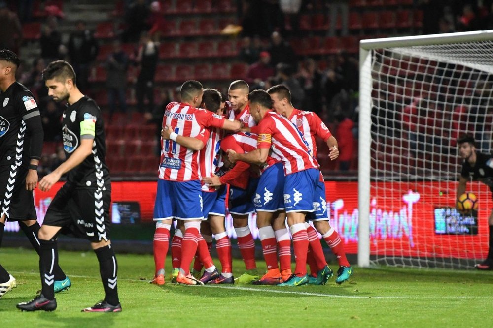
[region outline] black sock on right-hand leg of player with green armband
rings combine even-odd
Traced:
[[[105,288],[105,300],[111,305],[118,305],[118,286],[116,286],[116,274],[118,263],[111,245],[95,249],[94,252],[99,261],[99,272]]]

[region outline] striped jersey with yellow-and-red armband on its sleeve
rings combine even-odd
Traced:
[[[267,112],[257,127],[257,148],[271,148],[272,157],[282,159],[286,175],[318,169],[312,150],[296,126],[275,112]]]

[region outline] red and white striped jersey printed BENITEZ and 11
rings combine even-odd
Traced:
[[[206,128],[220,128],[224,117],[185,103],[171,102],[166,106],[163,126],[170,125],[184,137],[195,137],[207,143]],[[171,181],[199,180],[199,152],[179,145],[173,140],[161,140],[159,179]]]

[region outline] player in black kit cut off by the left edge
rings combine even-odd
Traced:
[[[33,190],[43,147],[43,127],[33,94],[15,80],[20,60],[0,50],[0,245],[5,221],[18,221],[39,254]],[[70,279],[53,268],[55,291],[70,287]],[[0,265],[0,298],[16,287],[15,278]]]

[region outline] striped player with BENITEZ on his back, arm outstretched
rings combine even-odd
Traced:
[[[197,250],[200,223],[204,218],[197,162],[198,150],[207,142],[205,128],[235,131],[241,124],[238,121],[226,120],[205,109],[196,108],[201,104],[203,95],[202,84],[198,81],[189,80],[183,83],[180,94],[182,102],[170,103],[164,114],[165,128],[162,133],[154,220],[163,225],[156,225],[156,228],[168,230],[168,236],[173,218],[184,221],[182,256],[176,281],[184,284],[202,284],[189,272],[190,263]],[[164,235],[166,234],[161,233],[161,237]],[[163,241],[163,238],[159,241]]]

